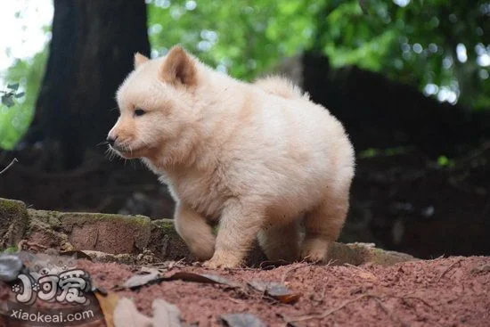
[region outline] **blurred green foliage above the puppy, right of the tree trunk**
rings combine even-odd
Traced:
[[[471,108],[490,106],[490,6],[443,0],[149,0],[151,45],[180,43],[236,78],[252,79],[286,56],[321,50],[334,67],[354,64]],[[464,45],[466,61],[456,48]],[[480,50],[476,50],[476,49]],[[427,85],[431,87],[426,88]]]

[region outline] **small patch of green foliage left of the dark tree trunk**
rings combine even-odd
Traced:
[[[5,103],[4,98],[2,98],[4,106],[0,105],[0,148],[2,149],[12,149],[29,128],[34,116],[34,107],[46,58],[47,50],[37,53],[30,60],[15,61],[6,72],[6,80],[16,80],[20,83],[16,83],[13,89],[12,86],[7,86],[15,92],[13,96],[10,96],[11,102],[7,100],[8,103]],[[24,91],[18,92],[20,89]],[[13,98],[15,98],[15,102],[13,102]]]

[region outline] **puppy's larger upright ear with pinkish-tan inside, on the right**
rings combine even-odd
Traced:
[[[194,61],[179,45],[170,49],[159,68],[159,78],[172,85],[195,86],[196,75]]]

